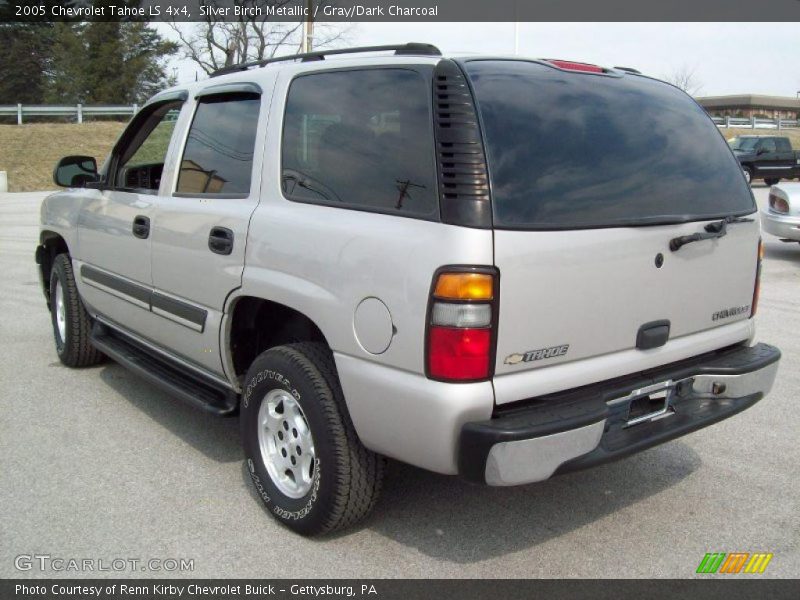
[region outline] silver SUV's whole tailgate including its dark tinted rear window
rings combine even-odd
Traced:
[[[673,86],[566,64],[463,63],[490,173],[498,404],[752,335],[756,207],[717,127]]]

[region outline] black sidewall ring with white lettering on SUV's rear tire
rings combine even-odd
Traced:
[[[316,375],[322,380],[321,374]],[[298,402],[314,439],[314,480],[309,492],[301,498],[290,498],[275,486],[261,457],[258,413],[267,393],[275,389],[286,391]],[[242,445],[250,478],[267,510],[300,533],[313,533],[323,528],[335,494],[337,466],[333,457],[336,450],[316,398],[318,393],[296,360],[271,350],[250,367],[241,401]]]

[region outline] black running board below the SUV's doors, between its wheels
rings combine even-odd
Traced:
[[[217,416],[232,415],[238,408],[236,393],[221,385],[190,375],[124,334],[95,322],[91,341],[103,354],[176,398]]]

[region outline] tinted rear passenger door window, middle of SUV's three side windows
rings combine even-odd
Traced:
[[[217,96],[198,103],[181,159],[178,193],[250,193],[260,104],[254,96]]]

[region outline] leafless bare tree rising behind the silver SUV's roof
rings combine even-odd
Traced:
[[[200,0],[201,6],[212,9],[234,5],[260,7],[261,14],[224,20],[219,11],[206,10],[200,23],[178,25],[172,22],[170,27],[180,39],[184,56],[211,74],[238,63],[271,58],[282,49],[298,52],[302,22],[270,20],[270,7],[279,8],[288,3],[289,0]],[[345,43],[351,31],[352,27],[345,25],[315,23],[314,47]]]

